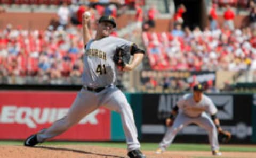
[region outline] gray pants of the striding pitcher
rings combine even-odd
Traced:
[[[101,106],[120,113],[128,151],[140,148],[130,104],[127,102],[124,93],[115,86],[107,87],[99,93],[82,89],[78,92],[67,115],[55,121],[51,127],[39,132],[37,134],[37,140],[43,142],[46,139],[62,134]]]

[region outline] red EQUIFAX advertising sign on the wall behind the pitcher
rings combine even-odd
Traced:
[[[0,139],[25,139],[66,116],[76,92],[0,91]],[[85,110],[85,109],[81,109]],[[110,111],[99,108],[58,140],[110,140]]]

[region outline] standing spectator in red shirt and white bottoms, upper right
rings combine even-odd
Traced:
[[[223,14],[224,16],[224,27],[229,28],[230,30],[234,30],[234,19],[235,19],[235,13],[233,10],[231,10],[230,5],[226,6],[226,11]]]

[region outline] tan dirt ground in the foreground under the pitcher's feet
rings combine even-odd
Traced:
[[[161,155],[154,151],[142,151],[147,157],[213,157],[211,152],[168,151]],[[119,148],[87,145],[54,145],[54,146],[0,146],[0,157],[127,157],[127,151]],[[252,152],[222,152],[221,157],[256,157]]]

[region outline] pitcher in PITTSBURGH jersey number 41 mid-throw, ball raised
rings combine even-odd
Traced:
[[[85,13],[83,15],[85,54],[81,91],[77,94],[65,117],[55,121],[51,127],[28,137],[24,145],[34,146],[58,136],[71,126],[76,125],[90,112],[103,106],[121,114],[126,136],[127,155],[129,157],[145,157],[140,151],[130,104],[125,95],[114,85],[117,67],[122,71],[131,71],[141,63],[145,52],[130,41],[109,36],[116,28],[113,17],[102,16],[99,19],[95,39],[90,36],[89,22],[90,14]],[[133,55],[130,64],[128,63],[129,55]]]

